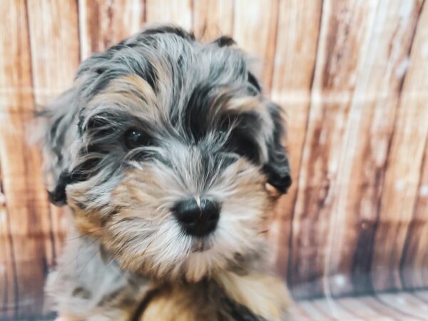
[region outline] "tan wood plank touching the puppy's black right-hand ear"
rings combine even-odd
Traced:
[[[309,115],[322,1],[281,1],[279,11],[271,96],[284,111],[293,183],[287,195],[280,198],[277,204],[270,238],[277,269],[286,277],[292,211]]]

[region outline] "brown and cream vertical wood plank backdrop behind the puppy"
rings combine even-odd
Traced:
[[[294,184],[270,235],[295,297],[428,287],[427,1],[1,0],[0,17],[0,319],[41,315],[66,230],[26,123],[151,22],[260,57],[287,111]]]

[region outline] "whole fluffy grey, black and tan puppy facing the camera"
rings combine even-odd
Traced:
[[[282,120],[233,39],[147,29],[83,61],[43,118],[74,227],[46,285],[61,320],[287,319],[265,240],[291,183]]]

